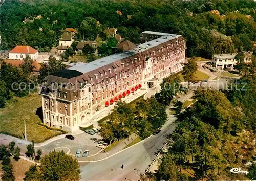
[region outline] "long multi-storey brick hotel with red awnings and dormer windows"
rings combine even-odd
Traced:
[[[69,132],[82,129],[106,116],[117,101],[132,101],[183,69],[182,36],[145,31],[140,40],[144,43],[124,41],[113,55],[71,63],[48,75],[42,93],[44,123]]]

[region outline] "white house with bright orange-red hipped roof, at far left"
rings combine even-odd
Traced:
[[[20,46],[17,45],[9,52],[9,59],[22,60],[29,55],[32,60],[38,57],[38,51],[30,46]]]

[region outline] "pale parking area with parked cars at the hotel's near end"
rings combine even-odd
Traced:
[[[100,148],[96,147],[97,143],[102,139],[99,134],[90,135],[88,133],[80,133],[74,135],[74,140],[67,138],[61,138],[53,141],[45,146],[37,147],[36,149],[42,149],[44,153],[49,153],[54,149],[56,151],[65,151],[66,153],[75,156],[77,149],[89,150],[89,156],[94,155],[101,151]]]

